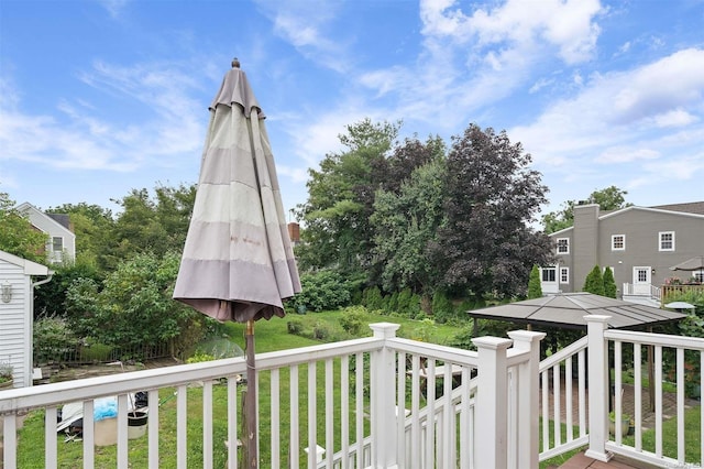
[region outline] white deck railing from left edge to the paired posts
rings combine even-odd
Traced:
[[[396,338],[394,324],[372,328],[374,337],[367,339],[256,357],[262,467],[472,468],[530,458],[530,467],[537,467],[537,445],[525,444],[522,436],[536,434],[530,432],[537,422],[530,400],[537,397],[532,377],[541,334],[515,332],[513,348],[509,339],[479,338],[479,351],[470,352]],[[28,451],[34,462],[58,467],[66,445],[81,445],[79,465],[100,466],[91,418],[85,419],[82,444],[59,444],[56,422],[64,404],[79,402],[84,415],[91,416],[94,400],[103,396],[117,396],[117,462],[129,467],[129,396],[146,390],[150,467],[210,468],[227,461],[234,468],[238,445],[226,441],[240,439],[238,375],[245,371],[238,358],[1,392],[4,467],[18,467]],[[439,381],[440,374],[441,386],[422,384]],[[536,393],[522,392],[528,389]],[[174,411],[160,411],[165,401]],[[202,422],[188,422],[194,405],[202,410]],[[396,410],[407,416],[397,418]],[[44,447],[23,448],[26,438],[18,432],[16,417],[42,412]],[[196,434],[194,426],[199,427]],[[170,427],[174,434],[160,435],[160,428]],[[306,451],[319,446],[326,449],[320,458]]]

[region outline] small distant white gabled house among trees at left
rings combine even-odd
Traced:
[[[76,234],[68,215],[44,214],[26,201],[16,209],[29,217],[34,228],[48,234],[46,259],[51,263],[76,259]]]

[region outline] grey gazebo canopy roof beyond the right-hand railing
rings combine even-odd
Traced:
[[[608,326],[612,328],[635,328],[686,317],[681,313],[623,302],[586,292],[543,296],[536,299],[474,309],[469,314],[475,318],[580,329],[586,328],[586,320],[584,320],[586,315],[610,316]]]

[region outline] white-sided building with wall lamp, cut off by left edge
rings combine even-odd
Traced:
[[[0,251],[0,361],[12,364],[14,388],[32,385],[34,286],[52,274],[46,265]]]

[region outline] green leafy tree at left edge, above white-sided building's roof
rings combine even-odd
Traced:
[[[14,205],[9,194],[0,192],[0,250],[45,264],[48,236],[34,229]]]

